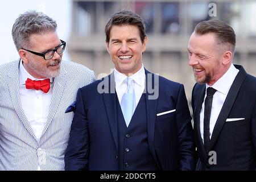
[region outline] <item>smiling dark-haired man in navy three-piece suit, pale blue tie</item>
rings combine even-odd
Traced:
[[[79,89],[65,154],[66,170],[191,170],[195,146],[184,86],[144,69],[147,36],[132,11],[105,27],[115,65]]]

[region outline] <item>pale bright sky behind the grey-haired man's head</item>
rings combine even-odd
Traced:
[[[8,0],[1,1],[0,6],[0,65],[19,59],[13,43],[11,28],[19,14],[27,10],[42,11],[57,22],[59,38],[67,42],[71,31],[71,0]],[[68,48],[68,44],[67,44]],[[64,52],[63,59],[68,60],[68,51]]]

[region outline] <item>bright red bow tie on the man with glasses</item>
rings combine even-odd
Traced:
[[[49,91],[49,88],[49,78],[45,80],[31,80],[30,78],[27,78],[26,80],[26,89],[42,90],[44,93],[47,93]]]

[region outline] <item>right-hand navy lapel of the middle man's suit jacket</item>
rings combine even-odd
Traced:
[[[155,154],[154,146],[154,136],[155,136],[155,119],[156,119],[156,110],[158,104],[158,98],[150,99],[151,95],[156,93],[151,93],[151,90],[159,88],[159,77],[158,75],[152,74],[145,69],[146,79],[145,79],[145,91],[146,92],[146,111],[147,111],[147,137],[148,137],[148,147],[150,152],[155,159],[158,168],[160,169],[160,164]],[[154,85],[154,86],[153,86]],[[158,93],[159,94],[159,93]]]

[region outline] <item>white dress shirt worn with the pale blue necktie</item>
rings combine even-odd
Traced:
[[[123,94],[126,92],[127,89],[126,78],[126,75],[123,75],[122,73],[118,72],[117,69],[114,69],[115,91],[117,92],[117,97],[120,105]],[[130,76],[130,78],[133,79],[132,85],[135,92],[135,106],[137,107],[145,88],[145,69],[143,64],[141,69],[139,69],[139,71],[134,75]]]

